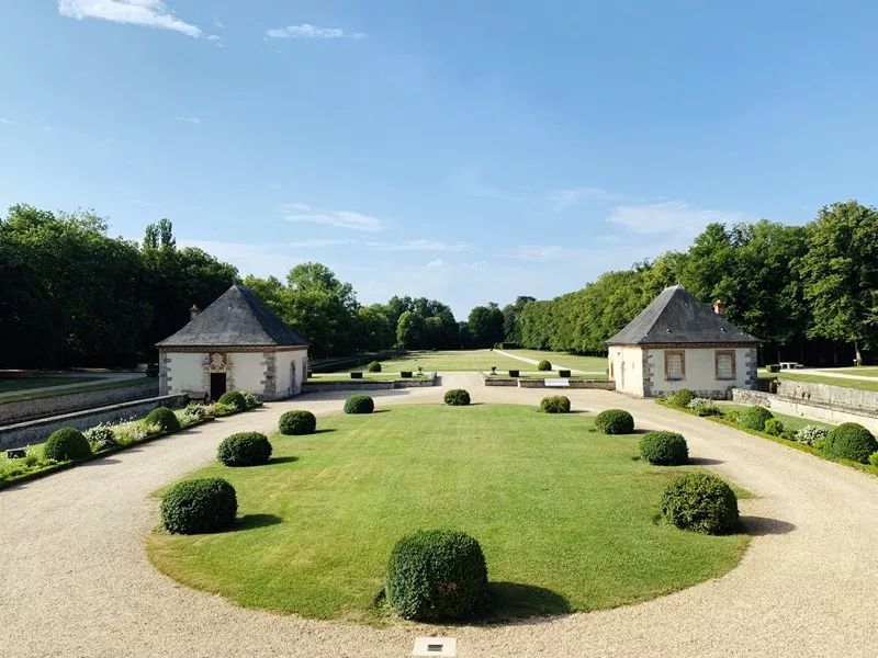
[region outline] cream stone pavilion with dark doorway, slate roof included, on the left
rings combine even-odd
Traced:
[[[160,395],[217,399],[249,390],[262,399],[296,395],[307,374],[308,345],[248,287],[233,285],[173,336],[157,343]]]

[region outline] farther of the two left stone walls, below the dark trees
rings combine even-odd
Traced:
[[[157,395],[158,379],[150,378],[142,384],[125,386],[124,388],[82,390],[18,402],[3,402],[2,398],[0,398],[0,424],[23,422],[35,418],[81,411],[82,409],[93,409],[95,407],[106,407]]]

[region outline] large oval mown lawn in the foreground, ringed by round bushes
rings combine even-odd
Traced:
[[[214,464],[237,489],[235,530],[148,538],[162,572],[248,608],[386,623],[374,601],[396,540],[418,529],[476,537],[489,619],[612,608],[731,569],[748,536],[657,522],[682,468],[635,460],[638,435],[595,433],[590,416],[515,405],[413,405],[322,418],[272,438],[271,463]]]

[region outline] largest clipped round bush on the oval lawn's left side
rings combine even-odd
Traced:
[[[237,512],[235,488],[218,477],[183,480],[161,497],[161,524],[175,534],[225,530]]]

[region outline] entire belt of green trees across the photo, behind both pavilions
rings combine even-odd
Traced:
[[[16,205],[0,218],[0,367],[128,365],[204,308],[237,270],[179,248],[171,223],[143,242],[108,235],[91,212]],[[709,225],[684,252],[608,272],[550,300],[519,296],[473,308],[464,321],[435,299],[393,296],[363,306],[350,283],[305,262],[281,280],[246,276],[312,344],[312,355],[357,351],[484,348],[605,353],[605,342],[664,287],[722,299],[730,319],[764,341],[763,362],[849,365],[878,348],[878,209],[851,201],[803,226],[759,220]]]

